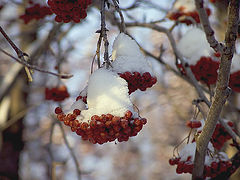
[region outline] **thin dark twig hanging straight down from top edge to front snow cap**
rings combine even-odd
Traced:
[[[110,66],[109,55],[108,55],[108,39],[107,39],[107,28],[105,22],[105,5],[108,0],[101,0],[101,35],[104,41],[104,61],[106,63],[106,68]]]

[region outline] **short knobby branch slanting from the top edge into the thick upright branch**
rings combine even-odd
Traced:
[[[206,13],[206,10],[204,9],[203,0],[195,0],[195,5],[199,14],[199,18],[200,18],[200,22],[202,24],[203,30],[205,31],[208,43],[216,52],[222,53],[223,45],[219,43],[214,36],[214,31],[210,26],[208,15]]]

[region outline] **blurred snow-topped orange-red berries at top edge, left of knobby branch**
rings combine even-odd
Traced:
[[[207,15],[210,16],[211,10],[205,8]],[[196,10],[194,1],[178,0],[174,3],[173,10],[168,14],[168,18],[173,21],[179,21],[186,25],[200,23],[200,18]],[[195,22],[194,22],[195,21]]]

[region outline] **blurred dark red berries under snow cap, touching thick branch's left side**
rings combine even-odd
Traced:
[[[201,57],[197,64],[190,65],[190,68],[198,81],[208,86],[216,83],[219,62],[212,60],[211,57]]]

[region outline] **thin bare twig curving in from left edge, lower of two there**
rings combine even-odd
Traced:
[[[8,52],[6,52],[5,50],[3,50],[1,48],[0,48],[0,51],[3,52],[4,54],[6,54],[7,56],[11,57],[12,59],[17,61],[18,63],[22,64],[23,66],[28,67],[29,69],[34,69],[34,70],[42,72],[42,73],[51,74],[51,75],[57,76],[57,77],[62,78],[62,79],[69,79],[69,78],[73,77],[72,74],[58,74],[58,73],[50,72],[50,71],[47,71],[47,70],[44,70],[44,69],[40,69],[39,67],[37,67],[35,65],[28,64],[27,61],[22,61],[21,59],[18,59],[16,57],[12,56],[11,54],[9,54]]]

